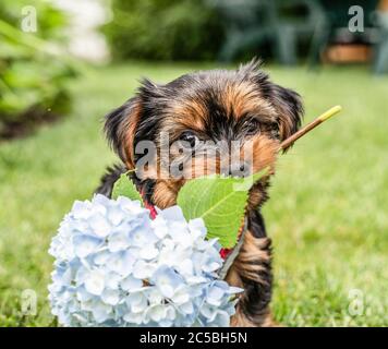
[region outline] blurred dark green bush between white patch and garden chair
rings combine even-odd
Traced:
[[[112,0],[105,27],[114,58],[208,60],[223,32],[205,0]]]

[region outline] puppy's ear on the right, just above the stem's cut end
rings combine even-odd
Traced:
[[[284,141],[301,127],[303,104],[301,96],[292,89],[274,84],[271,101],[279,115],[280,140]]]

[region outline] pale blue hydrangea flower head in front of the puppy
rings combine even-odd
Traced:
[[[75,202],[49,253],[49,300],[64,326],[228,326],[241,289],[218,279],[217,240],[178,207],[151,220],[138,201]]]

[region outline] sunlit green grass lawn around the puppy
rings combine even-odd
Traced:
[[[73,201],[90,197],[116,159],[101,133],[104,115],[141,76],[167,82],[198,68],[89,70],[72,85],[70,117],[0,144],[0,326],[53,323],[47,250]],[[275,245],[275,317],[288,326],[387,326],[388,77],[357,68],[268,70],[301,93],[305,121],[343,106],[279,160],[264,209]],[[36,316],[22,315],[25,289],[37,292]]]

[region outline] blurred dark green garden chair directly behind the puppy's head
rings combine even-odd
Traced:
[[[282,64],[296,63],[300,38],[311,37],[319,27],[323,13],[312,0],[207,0],[222,17],[226,43],[219,53],[231,61],[243,50],[257,51],[269,44]],[[303,9],[302,14],[299,10]]]

